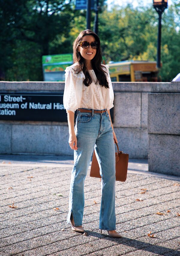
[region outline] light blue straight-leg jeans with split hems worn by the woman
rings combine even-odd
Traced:
[[[92,110],[92,113],[78,112],[74,130],[78,149],[74,150],[74,167],[71,173],[67,223],[70,223],[72,212],[75,226],[82,225],[84,180],[95,149],[102,177],[99,228],[115,230],[115,146],[113,129],[107,109],[104,113],[94,113],[94,110]]]

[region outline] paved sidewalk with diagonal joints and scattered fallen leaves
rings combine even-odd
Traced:
[[[0,255],[180,255],[178,177],[128,173],[125,183],[116,181],[116,231],[123,238],[114,239],[105,230],[100,233],[101,182],[89,176],[89,169],[83,218],[87,236],[66,222],[71,170],[50,164],[0,166]],[[17,208],[9,207],[13,204]]]

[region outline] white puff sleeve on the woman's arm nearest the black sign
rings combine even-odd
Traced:
[[[72,67],[65,69],[65,86],[63,95],[63,105],[67,110],[73,113],[79,108],[82,98],[82,83],[85,78],[84,73],[81,71],[76,74]]]

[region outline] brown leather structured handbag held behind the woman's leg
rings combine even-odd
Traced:
[[[117,143],[116,143],[116,146],[117,146],[117,150],[115,152],[115,157],[116,157],[116,180],[125,181],[126,178],[127,178],[129,154],[125,154],[125,153],[123,153],[123,151],[119,151],[119,147],[118,147]],[[94,151],[93,156],[92,156],[90,176],[101,178],[101,175],[100,175],[100,172],[99,172],[99,164],[98,164],[98,160],[97,160],[96,155],[95,155],[95,151]]]

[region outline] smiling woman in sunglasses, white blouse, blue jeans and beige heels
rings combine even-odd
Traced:
[[[107,65],[101,64],[100,39],[91,30],[82,31],[73,42],[74,64],[65,70],[63,104],[67,112],[69,145],[74,150],[67,223],[74,231],[84,232],[84,180],[93,150],[100,164],[101,209],[99,228],[108,235],[115,231],[115,147],[116,134],[110,117],[114,93]],[[76,125],[74,113],[77,109]],[[113,140],[114,139],[114,140]]]

